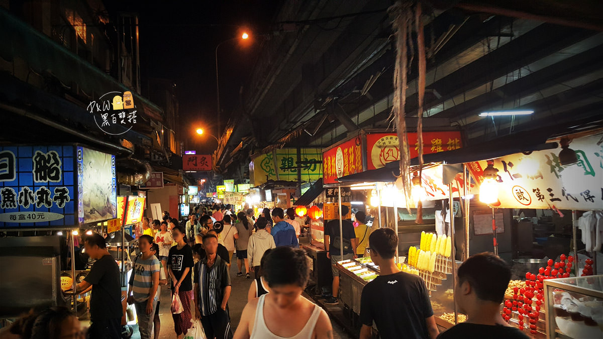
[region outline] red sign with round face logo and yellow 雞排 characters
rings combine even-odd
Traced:
[[[408,133],[411,159],[418,156],[417,133]],[[374,170],[386,163],[400,160],[399,141],[396,133],[367,134],[367,169]],[[423,132],[423,154],[438,153],[461,148],[460,131]]]

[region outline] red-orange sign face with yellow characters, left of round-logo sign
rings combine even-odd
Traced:
[[[337,178],[362,172],[362,139],[353,138],[323,152],[323,183],[337,183]]]

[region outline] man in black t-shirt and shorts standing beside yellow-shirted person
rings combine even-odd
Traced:
[[[341,215],[347,215],[349,209],[346,205],[341,206]],[[324,249],[327,251],[327,258],[331,259],[331,271],[333,273],[333,296],[324,300],[325,303],[335,305],[337,303],[337,294],[339,292],[339,270],[335,263],[342,260],[356,258],[356,247],[358,239],[354,232],[354,225],[350,220],[342,220],[343,230],[343,256],[341,256],[341,239],[339,238],[339,219],[331,220],[324,227]]]

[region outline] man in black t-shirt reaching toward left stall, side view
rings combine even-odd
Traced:
[[[121,282],[119,267],[107,251],[105,239],[97,233],[86,236],[84,249],[90,258],[96,259],[83,282],[77,285],[77,293],[92,286],[90,296],[90,328],[92,339],[121,338]]]

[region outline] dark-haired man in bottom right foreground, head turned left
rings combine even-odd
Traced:
[[[457,275],[455,301],[459,312],[467,314],[467,321],[452,326],[438,339],[529,338],[500,315],[500,303],[511,279],[507,262],[493,253],[479,253],[463,262]]]

